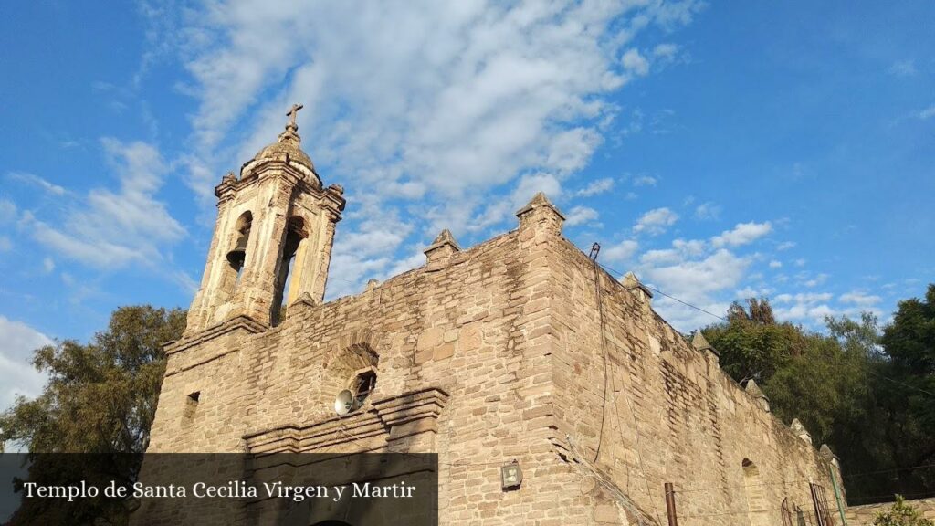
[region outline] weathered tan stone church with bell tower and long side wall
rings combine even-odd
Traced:
[[[444,230],[422,267],[324,301],[345,199],[298,108],[215,190],[149,452],[437,453],[446,525],[661,526],[673,503],[689,525],[840,523],[827,446],[564,238],[542,194],[514,230],[467,249]]]

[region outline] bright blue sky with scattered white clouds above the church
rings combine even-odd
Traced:
[[[7,3],[0,406],[38,392],[37,345],[188,306],[214,184],[294,102],[348,197],[330,298],[544,190],[570,240],[713,313],[885,320],[935,273],[932,27],[924,1]]]

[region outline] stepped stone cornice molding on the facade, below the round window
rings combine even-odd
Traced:
[[[251,453],[309,453],[349,443],[357,450],[380,449],[413,434],[438,432],[447,402],[448,393],[428,387],[372,402],[367,410],[348,416],[252,433],[244,441]]]

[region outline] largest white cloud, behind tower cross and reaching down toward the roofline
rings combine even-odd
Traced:
[[[533,189],[562,194],[610,133],[620,112],[611,95],[646,70],[632,60],[646,60],[639,51],[621,60],[635,37],[653,26],[670,37],[700,7],[205,0],[185,27],[164,29],[156,15],[152,24],[185,36],[180,56],[194,80],[184,90],[198,109],[182,162],[206,210],[219,174],[275,138],[284,109],[301,102],[306,151],[325,183],[345,185],[348,213],[375,196],[367,206],[411,218],[411,235],[479,231],[511,220]],[[353,240],[379,230],[347,221],[341,231]],[[408,244],[386,241],[360,258],[339,234],[343,279],[394,268]]]

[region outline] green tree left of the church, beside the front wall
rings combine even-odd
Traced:
[[[121,307],[111,314],[108,329],[89,343],[65,340],[36,349],[33,365],[49,380],[36,399],[20,397],[0,415],[0,443],[28,448],[31,480],[62,484],[69,477],[93,475],[134,480],[140,454],[149,445],[165,373],[163,343],[177,340],[184,329],[180,309]],[[116,524],[125,519],[125,510],[103,501],[68,507],[27,502],[10,524],[90,524],[97,517]]]

